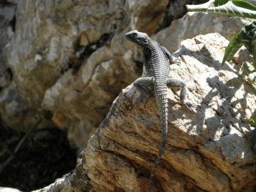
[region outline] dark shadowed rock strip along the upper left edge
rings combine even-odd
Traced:
[[[13,82],[13,71],[6,58],[6,49],[15,35],[15,10],[19,1],[3,1],[0,3],[0,113],[4,124],[13,129],[23,125],[33,125],[38,116],[35,110],[29,110],[17,92],[17,84]]]

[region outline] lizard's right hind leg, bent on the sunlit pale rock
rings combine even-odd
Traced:
[[[178,79],[168,78],[167,79],[167,86],[170,87],[180,87],[180,102],[184,104],[187,108],[190,108],[192,106],[191,102],[186,101],[186,95],[187,95],[187,87],[186,83],[184,81],[180,81]]]

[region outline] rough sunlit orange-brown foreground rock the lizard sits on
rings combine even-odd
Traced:
[[[170,76],[188,82],[193,112],[168,91],[169,133],[154,191],[253,191],[256,158],[246,118],[256,108],[255,90],[232,62],[221,68],[228,41],[218,33],[182,42],[180,64]],[[244,49],[236,61],[252,61]],[[173,92],[174,91],[174,92]],[[156,101],[134,105],[128,86],[88,141],[74,173],[38,191],[147,191],[158,153],[161,124]]]

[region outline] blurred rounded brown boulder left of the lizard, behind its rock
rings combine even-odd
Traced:
[[[132,68],[136,68],[134,63],[121,63],[104,46],[93,52],[77,74],[68,70],[47,90],[43,108],[54,111],[56,125],[68,127],[72,146],[86,147],[115,95],[138,76]]]

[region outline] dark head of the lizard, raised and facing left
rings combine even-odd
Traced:
[[[133,30],[125,33],[125,36],[128,38],[128,40],[140,46],[148,45],[148,35],[146,33]]]

